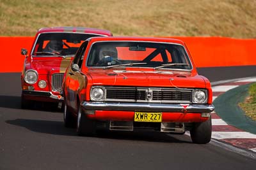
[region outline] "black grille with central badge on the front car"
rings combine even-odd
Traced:
[[[151,103],[191,103],[192,90],[106,87],[106,101],[138,101]]]

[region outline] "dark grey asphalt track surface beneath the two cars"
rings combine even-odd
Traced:
[[[255,76],[256,66],[198,69],[211,81]],[[52,106],[20,109],[20,73],[0,74],[0,169],[255,169],[256,159],[214,141],[154,131],[80,137]]]

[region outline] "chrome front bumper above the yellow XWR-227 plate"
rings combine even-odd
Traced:
[[[164,103],[118,103],[118,102],[82,102],[84,110],[115,110],[115,111],[161,111],[161,112],[186,112],[210,113],[214,111],[212,104],[189,104],[184,108],[181,104]]]

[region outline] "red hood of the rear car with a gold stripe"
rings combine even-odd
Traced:
[[[65,73],[72,57],[63,59],[61,57],[37,57],[31,61],[31,69],[35,69],[38,74]]]

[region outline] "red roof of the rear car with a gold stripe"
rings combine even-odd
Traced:
[[[81,32],[89,34],[101,34],[106,36],[113,36],[111,31],[104,29],[88,28],[88,27],[44,27],[38,29],[38,34],[45,32]]]

